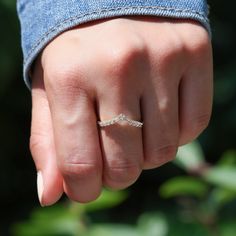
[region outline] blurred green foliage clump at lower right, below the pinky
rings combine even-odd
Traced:
[[[176,164],[188,175],[168,180],[160,187],[160,194],[182,198],[182,209],[192,222],[200,222],[208,229],[207,235],[232,235],[236,216],[233,214],[230,223],[221,211],[236,202],[236,152],[225,152],[218,164],[211,166],[195,142],[181,148]]]

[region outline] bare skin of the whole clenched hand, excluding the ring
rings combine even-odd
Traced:
[[[208,125],[212,77],[209,35],[194,21],[122,17],[59,35],[32,73],[41,204],[63,192],[89,202],[103,186],[126,188],[143,169],[173,160]],[[98,127],[120,113],[143,128]]]

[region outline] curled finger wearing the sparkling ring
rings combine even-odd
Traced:
[[[99,96],[98,115],[101,121],[119,114],[132,120],[140,120],[139,97],[110,89]],[[136,181],[142,170],[143,145],[142,129],[129,125],[126,121],[100,127],[103,152],[103,181],[107,187],[122,189]]]

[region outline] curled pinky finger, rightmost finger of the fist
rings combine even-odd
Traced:
[[[180,83],[180,145],[197,138],[209,123],[213,100],[211,58],[211,50],[206,50],[202,60],[193,61]]]

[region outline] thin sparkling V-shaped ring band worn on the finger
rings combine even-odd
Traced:
[[[114,125],[116,123],[123,122],[123,121],[126,121],[129,125],[137,127],[137,128],[141,128],[143,126],[143,122],[131,120],[122,113],[110,120],[98,121],[98,125],[100,127],[105,127],[105,126]]]

